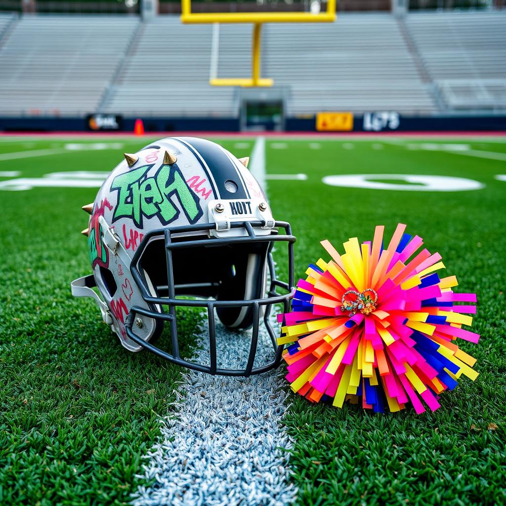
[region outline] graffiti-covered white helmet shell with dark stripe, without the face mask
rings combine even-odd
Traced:
[[[177,161],[167,163],[166,153]],[[215,199],[260,198],[266,203],[267,199],[247,168],[214,142],[169,137],[130,156],[131,163],[123,159],[97,194],[88,245],[95,281],[112,314],[112,328],[125,348],[139,351],[142,347],[126,336],[125,318],[133,306],[156,309],[142,298],[130,266],[144,236],[166,227],[209,223],[208,203]],[[123,255],[105,246],[104,228],[115,235]],[[150,291],[154,297],[154,288]],[[142,316],[133,328],[149,341],[160,331],[158,324]]]

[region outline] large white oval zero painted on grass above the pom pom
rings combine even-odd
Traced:
[[[412,184],[395,184],[375,181],[378,179],[402,180]],[[372,180],[372,181],[370,181]],[[474,179],[449,176],[419,176],[415,174],[344,174],[325,176],[323,183],[345,188],[398,191],[467,191],[480,190],[485,185]]]

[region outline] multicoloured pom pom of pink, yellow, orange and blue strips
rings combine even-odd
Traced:
[[[354,237],[345,254],[321,242],[331,260],[310,265],[300,279],[292,311],[278,344],[286,379],[294,392],[312,402],[345,401],[373,411],[399,411],[411,403],[417,413],[434,411],[439,394],[452,390],[461,374],[476,379],[476,359],[456,339],[477,343],[479,335],[462,328],[476,313],[474,293],[454,293],[455,276],[441,278],[441,256],[416,251],[423,240],[399,224],[383,247],[383,226],[372,244]],[[457,302],[466,303],[456,305]],[[468,313],[468,314],[465,314]]]

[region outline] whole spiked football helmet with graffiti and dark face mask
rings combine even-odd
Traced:
[[[147,349],[211,374],[249,376],[279,365],[283,347],[269,315],[274,304],[289,311],[296,238],[288,223],[273,219],[247,162],[208,140],[161,139],[125,154],[95,202],[83,206],[90,213],[82,233],[88,236],[93,274],[73,281],[72,294],[95,300],[126,349]],[[286,282],[276,278],[274,268],[278,241],[287,244]],[[180,356],[182,307],[207,313],[205,363]],[[215,314],[226,327],[252,328],[243,368],[218,366]],[[273,353],[258,366],[262,320]],[[154,345],[164,325],[170,327],[170,351]]]

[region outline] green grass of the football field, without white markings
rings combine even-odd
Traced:
[[[123,152],[147,142],[0,138],[2,505],[129,502],[140,484],[134,475],[141,456],[159,433],[157,420],[173,409],[181,370],[151,354],[128,353],[93,303],[70,294],[70,281],[90,271],[80,206],[96,189],[1,186],[15,177],[12,171],[18,178],[107,172]],[[237,156],[248,156],[254,145],[244,138],[219,142]],[[467,154],[440,144],[467,146]],[[342,250],[349,237],[372,239],[377,224],[388,237],[406,223],[407,232],[440,252],[460,291],[477,292],[473,329],[482,335],[478,345],[461,345],[477,357],[478,379],[461,378],[435,413],[373,414],[346,404],[339,410],[291,396],[285,424],[294,440],[298,504],[505,503],[506,182],[495,176],[506,174],[506,144],[311,138],[268,139],[266,146],[268,174],[308,176],[268,181],[275,218],[290,221],[298,237],[297,276],[326,258],[324,238]],[[322,183],[325,176],[361,173],[453,176],[484,187],[432,192]],[[184,324],[190,338],[195,325]]]

